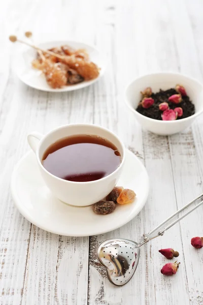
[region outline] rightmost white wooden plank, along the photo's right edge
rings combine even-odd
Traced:
[[[182,63],[181,70],[188,69],[188,73],[202,81],[202,59],[200,52],[202,51],[202,39],[200,39],[200,31],[202,28],[202,18],[200,16],[200,8],[202,3],[196,1],[193,5],[186,2],[186,13],[189,16],[188,27],[186,31],[188,36],[184,37],[183,43],[191,41],[187,52],[187,61]],[[189,31],[188,31],[189,28]],[[180,56],[183,55],[183,50]],[[192,65],[187,65],[188,61],[192,61]],[[192,196],[202,193],[202,116],[200,116],[192,125],[192,130],[186,131],[179,140],[172,139],[172,154],[174,154],[174,176],[176,178],[177,201],[182,206]],[[179,148],[177,147],[179,146]],[[178,166],[177,166],[178,164]],[[191,237],[201,235],[203,231],[202,225],[202,207],[198,208],[185,221],[182,222],[182,242],[184,246],[184,256],[186,262],[186,270],[189,285],[189,295],[191,304],[201,304],[203,302],[202,289],[202,255],[199,251],[189,247]]]

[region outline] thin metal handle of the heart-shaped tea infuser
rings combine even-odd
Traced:
[[[199,202],[200,201],[200,202]],[[139,247],[141,247],[142,245],[144,245],[144,243],[148,242],[151,239],[154,239],[158,236],[162,236],[164,234],[164,232],[168,229],[170,229],[171,227],[173,227],[177,222],[179,222],[181,219],[183,219],[185,216],[187,216],[188,214],[190,214],[193,210],[195,210],[197,207],[199,207],[201,204],[203,203],[203,194],[199,195],[198,197],[196,197],[195,199],[193,199],[192,201],[190,201],[189,203],[187,203],[186,205],[184,205],[182,208],[180,208],[179,210],[177,210],[174,214],[172,214],[170,217],[168,217],[165,221],[163,221],[160,225],[158,225],[156,228],[154,228],[152,231],[150,231],[148,234],[144,234],[143,235],[143,240],[139,243]],[[170,221],[172,218],[174,218],[175,216],[177,216],[180,212],[185,211],[186,208],[188,208],[189,206],[191,206],[192,204],[194,204],[194,207],[192,207],[189,211],[185,212],[182,216],[180,216],[179,218],[177,218],[175,221],[173,221],[172,223],[168,224],[166,227],[163,228],[163,226],[165,224],[168,223],[168,221]],[[160,229],[163,228],[163,229]],[[158,229],[160,229],[160,231],[158,231]],[[156,232],[156,233],[155,233]],[[155,234],[154,234],[155,233]]]

